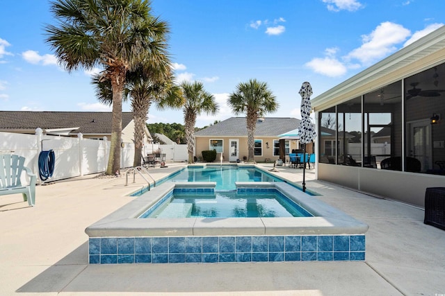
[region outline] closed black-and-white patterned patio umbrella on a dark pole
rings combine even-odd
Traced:
[[[315,139],[315,125],[312,123],[311,115],[311,96],[312,87],[309,82],[303,82],[298,92],[301,96],[301,122],[298,128],[298,134],[300,135],[300,143],[303,144],[303,162],[306,162],[306,144],[311,143]],[[303,192],[306,192],[305,173],[306,164],[303,165]]]

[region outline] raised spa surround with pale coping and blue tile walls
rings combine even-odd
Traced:
[[[312,217],[138,218],[173,190],[213,191],[214,182],[165,182],[86,229],[89,262],[222,263],[363,261],[368,225],[284,182],[236,182],[256,194],[275,188]]]

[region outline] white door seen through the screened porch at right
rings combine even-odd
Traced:
[[[422,171],[431,168],[431,125],[429,120],[410,123],[410,157],[419,159]]]

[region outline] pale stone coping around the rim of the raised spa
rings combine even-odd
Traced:
[[[138,218],[175,188],[211,188],[215,182],[165,182],[85,229],[90,238],[128,236],[277,236],[364,234],[369,226],[285,182],[236,182],[238,188],[282,191],[314,217]]]

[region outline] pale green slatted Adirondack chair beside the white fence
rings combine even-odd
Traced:
[[[37,176],[31,168],[24,166],[25,158],[19,155],[0,155],[0,195],[22,193],[23,200],[33,207],[35,204],[35,182]],[[23,185],[22,173],[29,177],[29,184]]]

